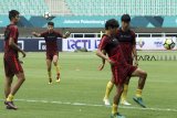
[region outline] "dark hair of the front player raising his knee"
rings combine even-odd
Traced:
[[[118,21],[115,19],[110,19],[105,23],[105,30],[108,30],[108,28],[114,29],[114,28],[118,28],[118,26],[119,26]]]

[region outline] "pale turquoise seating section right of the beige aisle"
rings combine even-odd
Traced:
[[[74,15],[176,15],[177,0],[65,0]]]

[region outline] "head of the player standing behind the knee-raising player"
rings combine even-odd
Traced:
[[[123,14],[121,18],[122,21],[122,28],[127,30],[129,29],[129,22],[131,22],[131,17],[129,14]]]

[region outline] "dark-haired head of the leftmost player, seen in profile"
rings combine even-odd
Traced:
[[[19,20],[20,20],[19,14],[20,14],[20,13],[19,13],[19,11],[17,11],[17,10],[11,10],[11,11],[9,11],[9,20],[10,20],[11,22],[18,23]]]

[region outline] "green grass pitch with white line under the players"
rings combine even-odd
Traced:
[[[139,52],[138,54],[175,55],[177,52]],[[28,53],[23,60],[27,81],[15,96],[18,110],[3,105],[3,64],[0,54],[0,118],[110,118],[111,107],[103,105],[105,85],[111,78],[110,66],[97,71],[101,63],[94,53],[60,53],[61,83],[48,85],[45,54]],[[132,97],[137,78],[132,78],[129,107],[119,111],[127,118],[177,118],[177,61],[140,61],[148,78],[143,93],[147,109]],[[53,69],[53,79],[55,78]],[[15,79],[14,79],[15,81]],[[54,79],[55,81],[55,79]],[[111,98],[115,89],[112,93]]]

